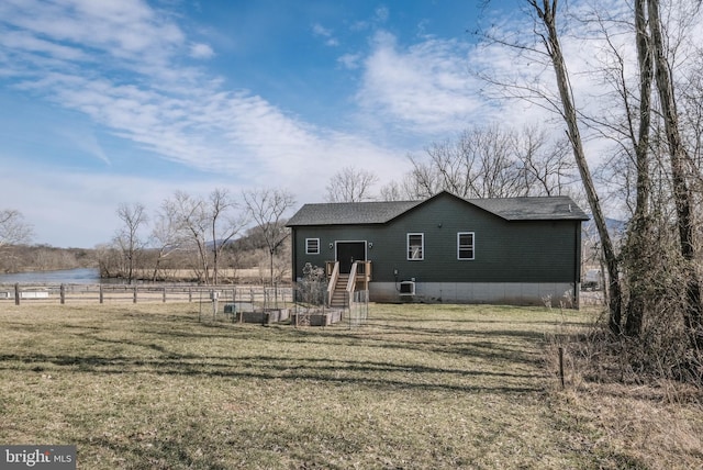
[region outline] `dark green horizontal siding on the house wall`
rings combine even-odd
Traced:
[[[473,260],[457,259],[458,232],[475,233]],[[335,240],[372,243],[372,281],[572,282],[579,272],[580,221],[507,222],[453,197],[429,200],[387,224],[298,226],[294,233],[294,278],[305,262],[333,260]],[[424,234],[424,260],[406,259],[408,233]],[[320,255],[305,255],[305,238],[320,238]]]

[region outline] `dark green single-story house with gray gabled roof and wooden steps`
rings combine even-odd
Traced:
[[[288,222],[292,277],[326,267],[331,298],[578,306],[588,219],[568,197],[305,204]]]

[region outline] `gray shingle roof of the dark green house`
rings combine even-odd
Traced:
[[[384,224],[442,194],[460,199],[506,221],[587,221],[589,219],[571,198],[566,195],[462,199],[444,191],[424,201],[305,204],[288,221],[288,226]]]

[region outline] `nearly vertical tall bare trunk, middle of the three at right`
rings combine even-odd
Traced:
[[[637,63],[639,65],[639,128],[634,142],[637,167],[637,201],[635,214],[627,233],[627,269],[629,299],[625,333],[639,335],[645,316],[647,294],[650,289],[649,273],[654,251],[652,221],[649,215],[651,179],[649,177],[649,128],[651,124],[651,83],[654,80],[654,58],[647,32],[647,0],[635,1],[635,37]],[[634,136],[633,136],[634,138]]]

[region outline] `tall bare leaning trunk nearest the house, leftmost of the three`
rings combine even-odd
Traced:
[[[585,194],[593,213],[593,220],[598,228],[601,244],[603,246],[603,256],[605,257],[605,265],[607,266],[609,275],[609,307],[610,317],[609,326],[614,334],[621,334],[621,320],[622,320],[622,291],[620,286],[620,273],[617,258],[613,248],[610,233],[605,224],[605,216],[601,209],[601,203],[595,192],[595,186],[591,178],[591,171],[585,160],[585,153],[583,150],[583,143],[581,142],[581,134],[579,132],[579,125],[577,120],[576,108],[573,103],[573,94],[571,91],[571,85],[569,81],[569,74],[567,71],[566,64],[563,61],[563,55],[561,54],[561,45],[559,43],[559,35],[557,33],[556,24],[556,10],[557,0],[542,0],[542,7],[538,4],[538,0],[527,0],[528,3],[535,9],[539,20],[543,22],[546,36],[543,36],[544,45],[549,54],[554,71],[557,78],[557,86],[559,87],[559,96],[561,98],[561,104],[563,108],[563,119],[566,121],[569,137],[569,142],[573,148],[573,156],[576,158],[579,172],[585,189]]]

